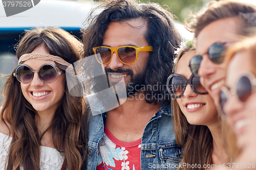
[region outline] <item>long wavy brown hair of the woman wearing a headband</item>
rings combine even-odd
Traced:
[[[17,44],[16,55],[31,53],[44,45],[49,54],[59,56],[69,63],[81,59],[82,44],[74,36],[59,28],[37,28],[27,31]],[[56,63],[65,70],[67,67]],[[14,72],[14,70],[13,70]],[[10,125],[12,141],[7,155],[6,169],[40,170],[40,145],[42,136],[52,131],[54,148],[65,155],[63,167],[81,169],[86,150],[86,102],[82,97],[70,95],[65,81],[65,94],[55,111],[50,127],[39,135],[37,112],[24,98],[20,83],[9,75],[4,88],[1,119]]]

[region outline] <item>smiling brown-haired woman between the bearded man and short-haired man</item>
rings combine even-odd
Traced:
[[[180,164],[187,164],[178,169],[207,169],[226,163],[229,158],[214,101],[200,84],[200,78],[195,77],[188,66],[195,53],[195,48],[191,46],[179,52],[175,59],[175,74],[170,75],[167,82],[173,97],[176,140],[183,148]]]

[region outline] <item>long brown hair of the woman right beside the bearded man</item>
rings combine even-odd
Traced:
[[[176,72],[177,63],[180,60],[180,58],[187,53],[188,51],[195,51],[196,48],[194,46],[186,46],[183,48],[182,51],[180,51],[179,55],[177,56],[177,62],[174,64],[174,70],[173,72]],[[172,109],[173,109],[173,117],[174,117],[174,129],[175,129],[175,136],[177,144],[180,145],[183,149],[183,158],[180,162],[187,163],[190,165],[201,165],[194,166],[191,168],[187,168],[185,166],[179,166],[178,169],[207,169],[204,168],[203,165],[210,165],[211,164],[211,155],[212,151],[214,149],[212,135],[207,126],[203,125],[191,125],[187,122],[187,119],[185,115],[182,113],[178,102],[176,99],[172,100]],[[221,121],[221,128],[222,128],[222,134],[228,135],[228,138],[233,138],[232,134],[230,132],[230,129],[226,126],[226,123],[224,120],[220,118]],[[224,146],[228,147],[226,144],[226,138],[224,135],[222,135]],[[232,145],[233,147],[233,145]],[[233,149],[232,147],[227,148],[225,151],[228,155],[227,162],[230,162],[232,160],[232,154],[229,151]],[[237,150],[235,150],[237,151]],[[237,154],[237,153],[236,153]]]

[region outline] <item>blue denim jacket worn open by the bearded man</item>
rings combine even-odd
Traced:
[[[98,143],[104,135],[106,113],[89,117],[88,151],[83,168],[96,170]],[[141,170],[177,169],[182,148],[176,143],[172,112],[163,108],[145,126],[141,138]]]

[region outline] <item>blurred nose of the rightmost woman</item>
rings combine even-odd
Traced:
[[[224,105],[224,112],[227,115],[228,122],[230,122],[230,118],[241,111],[244,107],[244,104],[239,101],[235,96],[230,96],[228,101]]]

